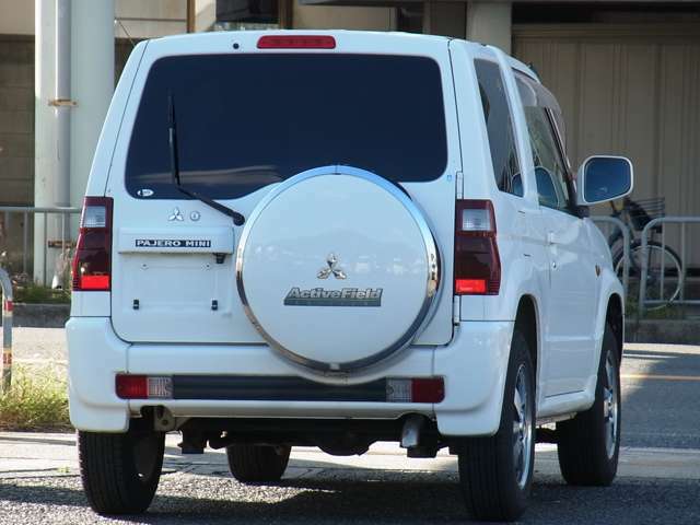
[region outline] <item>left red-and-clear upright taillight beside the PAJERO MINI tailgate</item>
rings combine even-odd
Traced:
[[[85,197],[73,257],[73,290],[108,292],[112,287],[112,199]]]

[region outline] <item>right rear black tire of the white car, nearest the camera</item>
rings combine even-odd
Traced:
[[[514,423],[516,412],[514,396],[516,380],[523,370],[528,388],[527,406],[523,419],[529,427],[527,458],[523,459],[524,468],[517,471],[514,446],[516,436]],[[495,435],[490,438],[471,438],[465,441],[459,453],[459,485],[467,510],[472,517],[482,521],[514,521],[527,506],[535,463],[535,374],[529,348],[523,332],[515,327],[511,342],[511,357],[501,410],[501,424]],[[523,474],[524,472],[524,474]]]

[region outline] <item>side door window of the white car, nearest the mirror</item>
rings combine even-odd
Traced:
[[[515,82],[527,121],[539,203],[569,211],[572,207],[569,170],[552,125],[559,106],[549,92],[522,73],[515,74]]]

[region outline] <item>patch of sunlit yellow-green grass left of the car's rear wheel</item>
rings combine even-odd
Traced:
[[[0,394],[0,431],[69,429],[65,368],[14,366],[10,390]]]

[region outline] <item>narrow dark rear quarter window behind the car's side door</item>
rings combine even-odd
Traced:
[[[498,63],[489,60],[475,60],[474,66],[479,82],[495,184],[501,191],[522,197],[521,167],[517,162],[513,120],[501,77],[501,68]]]

